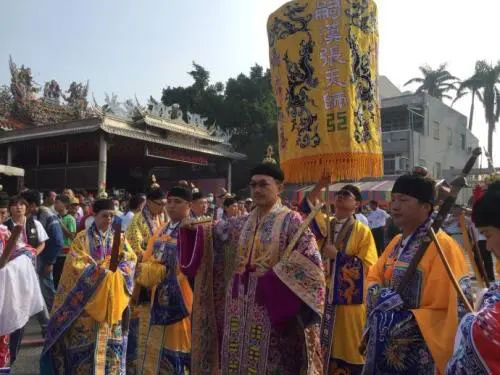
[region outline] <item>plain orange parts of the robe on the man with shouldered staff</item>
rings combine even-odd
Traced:
[[[465,280],[468,269],[462,250],[446,233],[439,231],[438,240],[457,280]],[[398,245],[401,235],[397,235],[387,246],[378,262],[370,269],[368,287],[375,284],[390,286],[393,267],[398,262],[390,257]],[[422,336],[432,353],[439,373],[444,374],[448,360],[453,352],[455,333],[459,322],[458,297],[448,277],[446,269],[432,243],[422,258],[418,271],[422,274],[420,303],[410,310],[417,321]]]

